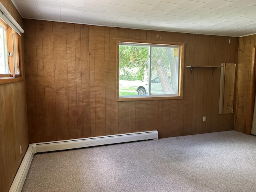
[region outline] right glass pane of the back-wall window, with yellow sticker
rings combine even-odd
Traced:
[[[150,95],[178,94],[178,48],[151,46]]]

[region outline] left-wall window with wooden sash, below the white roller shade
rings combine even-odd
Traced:
[[[0,19],[0,80],[20,77],[18,34]]]

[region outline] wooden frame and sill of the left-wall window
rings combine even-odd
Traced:
[[[0,84],[7,84],[13,82],[23,81],[22,78],[22,62],[21,62],[21,52],[20,52],[20,42],[21,37],[15,30],[13,30],[4,20],[0,18],[0,25],[6,28],[7,36],[7,51],[12,52],[12,56],[8,56],[8,66],[10,74],[0,74]],[[14,38],[15,37],[15,38]],[[19,74],[16,74],[16,69],[18,69]]]

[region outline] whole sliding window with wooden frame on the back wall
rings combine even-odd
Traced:
[[[184,43],[117,39],[117,101],[182,99]]]

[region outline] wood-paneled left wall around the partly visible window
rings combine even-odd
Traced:
[[[0,0],[22,26],[11,0]],[[20,38],[20,37],[19,37]],[[21,38],[20,38],[21,39]],[[22,45],[20,44],[22,57]],[[22,60],[20,61],[22,64]],[[24,77],[24,76],[23,76]],[[22,154],[20,154],[22,146]],[[0,191],[8,192],[28,148],[25,82],[0,84]]]

